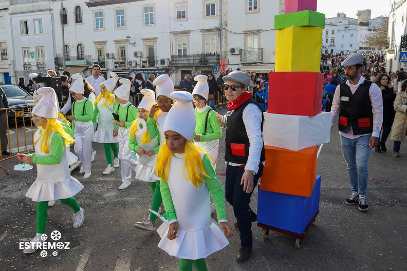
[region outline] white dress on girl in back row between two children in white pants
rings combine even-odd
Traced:
[[[101,98],[96,107],[99,110],[98,129],[93,135],[92,141],[98,143],[118,143],[119,137],[113,136],[115,126],[112,123],[114,107],[103,107],[104,98]]]

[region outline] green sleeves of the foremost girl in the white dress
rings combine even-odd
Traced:
[[[226,220],[225,191],[218,178],[216,177],[216,172],[212,167],[211,160],[206,154],[204,156],[204,159],[202,159],[202,163],[204,164],[205,171],[208,175],[208,177],[205,177],[204,180],[208,186],[209,193],[212,196],[213,203],[215,204],[218,221]],[[168,182],[163,182],[161,180],[160,191],[165,211],[167,211],[167,214],[170,214],[168,220],[171,221],[177,219]]]

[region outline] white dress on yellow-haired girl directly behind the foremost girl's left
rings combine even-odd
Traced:
[[[135,135],[136,135],[137,144],[146,150],[154,149],[160,145],[159,142],[157,141],[158,135],[157,135],[157,137],[152,139],[150,141],[150,143],[146,143],[146,144],[140,143],[141,139],[143,137],[143,133],[140,132],[139,129],[136,130]],[[137,172],[136,179],[142,180],[145,182],[156,182],[157,181],[156,179],[151,178],[151,176],[153,174],[155,163],[157,161],[157,155],[158,154],[155,154],[152,157],[149,157],[146,154],[143,154],[142,156],[139,156],[138,164],[137,164],[136,168],[134,169]]]

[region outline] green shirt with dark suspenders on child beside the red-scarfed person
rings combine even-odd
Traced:
[[[207,134],[205,132],[205,121],[208,114],[208,125],[207,125]],[[222,128],[220,127],[219,119],[216,115],[216,112],[210,107],[207,108],[204,112],[199,113],[197,108],[195,108],[195,133],[201,134],[199,142],[212,141],[220,139],[222,137]]]

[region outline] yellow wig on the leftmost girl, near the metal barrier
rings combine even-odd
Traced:
[[[42,127],[39,127],[42,128]],[[40,149],[45,153],[49,153],[49,141],[51,139],[52,132],[57,132],[62,135],[65,146],[69,146],[75,140],[65,131],[64,126],[58,119],[49,119],[47,118],[47,126],[44,131],[41,133],[40,137],[35,141],[36,144],[41,139]]]

